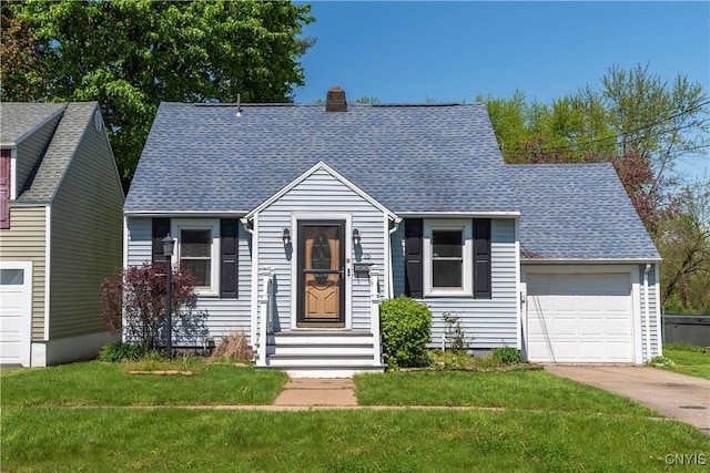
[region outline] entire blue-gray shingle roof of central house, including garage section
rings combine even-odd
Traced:
[[[481,103],[163,103],[126,213],[248,212],[323,161],[390,210],[520,212],[530,259],[659,259],[610,165],[503,163]]]

